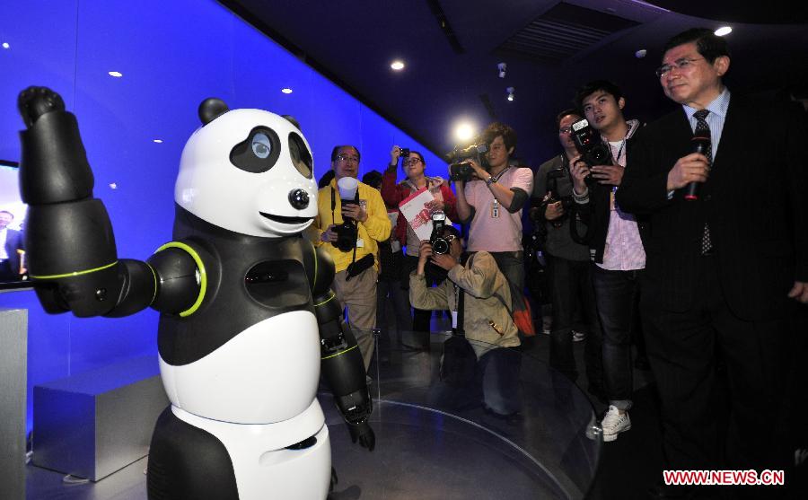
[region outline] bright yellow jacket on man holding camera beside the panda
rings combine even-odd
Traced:
[[[334,216],[331,218],[331,193],[334,193]],[[387,216],[387,208],[382,201],[382,195],[377,189],[373,189],[367,184],[359,182],[359,203],[364,203],[364,210],[367,212],[367,220],[359,223],[359,240],[362,246],[356,248],[356,260],[362,259],[367,254],[372,254],[375,259],[373,268],[379,270],[379,241],[385,241],[390,237],[391,223]],[[331,180],[330,184],[317,194],[317,216],[311,226],[309,236],[316,246],[325,245],[329,251],[337,272],[347,269],[348,264],[354,258],[354,251],[341,251],[330,243],[321,241],[321,235],[330,224],[342,224],[342,210],[340,209],[339,189],[337,180]]]

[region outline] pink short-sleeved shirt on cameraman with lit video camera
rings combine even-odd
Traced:
[[[497,180],[507,189],[521,188],[531,195],[533,171],[527,167],[510,167]],[[492,216],[494,195],[485,181],[472,180],[464,186],[466,201],[474,206],[475,215],[469,226],[469,251],[517,251],[522,250],[522,209],[511,214],[499,205],[499,216]]]

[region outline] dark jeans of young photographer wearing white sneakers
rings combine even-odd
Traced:
[[[634,392],[631,338],[637,325],[638,274],[592,265],[595,300],[603,329],[603,381],[610,404],[631,408]]]

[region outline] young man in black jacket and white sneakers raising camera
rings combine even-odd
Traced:
[[[603,441],[614,441],[631,428],[628,408],[634,392],[631,338],[637,325],[639,273],[646,251],[634,215],[615,204],[623,179],[627,142],[640,127],[623,118],[626,100],[617,85],[605,80],[586,83],[575,94],[588,127],[572,125],[584,154],[572,162],[573,196],[588,225],[584,238],[594,250],[593,284],[603,331],[603,381],[609,409],[603,417]],[[599,140],[602,138],[602,141]],[[589,147],[584,147],[584,143]],[[591,188],[591,189],[590,189]]]

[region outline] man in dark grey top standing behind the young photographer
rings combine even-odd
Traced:
[[[548,264],[550,302],[553,306],[550,366],[564,373],[573,382],[577,379],[572,323],[575,303],[580,300],[589,329],[584,347],[588,390],[602,399],[605,394],[602,381],[601,322],[595,308],[589,247],[574,241],[570,233],[570,217],[576,215],[572,210],[573,181],[569,165],[580,158],[572,141],[570,127],[579,119],[581,116],[575,110],[563,110],[556,117],[558,141],[564,151],[542,163],[536,172],[531,218],[545,234],[544,255]]]

